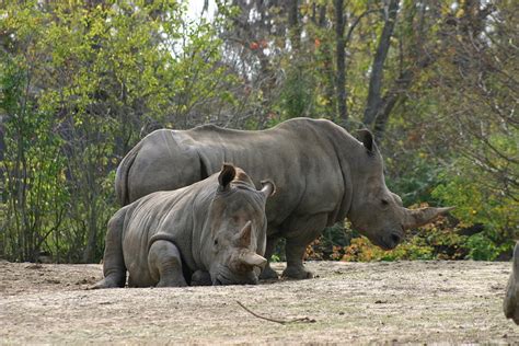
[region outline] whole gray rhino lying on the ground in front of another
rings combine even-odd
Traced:
[[[158,192],[122,208],[108,222],[104,279],[93,288],[256,284],[263,267],[265,201],[274,184],[256,191],[239,168],[176,191]]]

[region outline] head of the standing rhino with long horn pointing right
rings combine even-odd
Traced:
[[[399,195],[387,186],[383,160],[373,136],[360,130],[364,145],[357,158],[353,182],[353,197],[348,218],[353,227],[373,244],[384,250],[394,249],[404,238],[404,231],[432,221],[452,208],[407,209]]]

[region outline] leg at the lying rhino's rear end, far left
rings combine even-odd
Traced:
[[[104,279],[95,284],[92,289],[124,287],[126,282],[126,266],[123,256],[123,223],[124,212],[117,212],[108,221],[106,244],[103,256]]]

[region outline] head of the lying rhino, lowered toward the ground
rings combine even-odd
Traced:
[[[257,284],[257,274],[266,265],[267,219],[265,203],[275,193],[270,181],[257,191],[239,168],[223,164],[218,189],[209,207],[211,255],[209,275],[212,285]]]

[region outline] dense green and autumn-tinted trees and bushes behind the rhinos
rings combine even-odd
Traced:
[[[215,13],[209,8],[216,4]],[[2,1],[0,257],[97,262],[115,169],[160,127],[368,127],[404,204],[454,205],[391,252],[348,224],[309,258],[499,260],[519,237],[519,2]],[[278,257],[282,258],[282,253]]]

